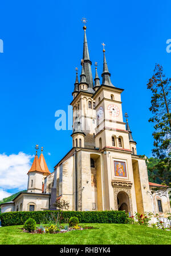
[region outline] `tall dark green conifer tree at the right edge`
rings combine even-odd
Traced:
[[[153,156],[160,159],[156,165],[149,167],[150,172],[157,170],[156,174],[162,182],[169,184],[171,180],[170,148],[171,148],[171,78],[165,78],[163,68],[156,64],[152,78],[149,79],[147,88],[152,91],[151,107],[153,116],[149,122],[154,123],[154,148]],[[155,174],[154,174],[155,175]]]

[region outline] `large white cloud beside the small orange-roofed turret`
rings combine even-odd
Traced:
[[[0,154],[0,189],[18,190],[27,189],[27,172],[31,168],[31,158],[33,156],[19,152],[18,155]],[[6,191],[5,191],[6,192]]]

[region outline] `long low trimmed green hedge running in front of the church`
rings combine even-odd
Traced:
[[[28,218],[36,223],[44,223],[51,212],[58,215],[58,211],[10,211],[0,215],[2,226],[23,225]],[[125,223],[125,211],[63,211],[62,223],[68,223],[71,217],[77,217],[79,223]]]

